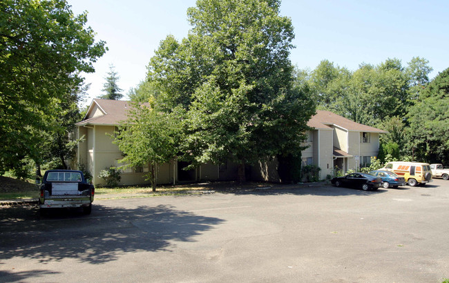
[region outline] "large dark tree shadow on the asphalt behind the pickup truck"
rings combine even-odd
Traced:
[[[170,251],[173,242],[195,242],[196,235],[222,222],[168,205],[133,209],[94,205],[91,215],[56,210],[45,217],[39,217],[37,206],[0,207],[0,265],[12,257],[42,264],[66,258],[102,264],[124,253]],[[5,282],[4,275],[0,273],[0,282]],[[14,276],[8,281],[28,275]]]

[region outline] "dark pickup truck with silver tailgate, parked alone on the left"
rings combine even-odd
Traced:
[[[95,188],[86,181],[82,171],[47,170],[44,179],[36,180],[40,188],[39,209],[82,207],[84,214],[92,211]]]

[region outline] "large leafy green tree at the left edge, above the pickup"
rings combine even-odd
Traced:
[[[0,171],[39,156],[41,131],[106,51],[64,0],[0,2]]]

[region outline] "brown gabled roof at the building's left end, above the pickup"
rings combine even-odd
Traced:
[[[120,121],[126,120],[128,110],[131,108],[131,101],[93,99],[92,104],[90,104],[87,110],[86,117],[84,117],[83,121],[78,122],[76,125],[116,126],[120,124]],[[93,117],[94,110],[101,111],[102,115]]]

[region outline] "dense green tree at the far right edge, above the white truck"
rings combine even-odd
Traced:
[[[408,113],[412,159],[449,163],[449,68],[440,72],[419,94]]]

